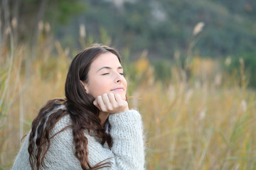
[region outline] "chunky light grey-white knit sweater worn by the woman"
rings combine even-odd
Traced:
[[[134,110],[123,113],[110,114],[110,135],[112,136],[112,149],[107,145],[102,146],[95,137],[85,132],[89,151],[88,159],[93,166],[105,159],[112,162],[111,168],[105,169],[144,169],[144,142],[141,115]],[[70,115],[65,115],[55,124],[51,135],[59,132],[66,126],[71,125]],[[28,137],[24,141],[14,162],[13,170],[31,169],[28,154]],[[80,162],[75,157],[73,146],[73,132],[71,128],[58,133],[50,140],[44,162],[44,169],[82,169]]]

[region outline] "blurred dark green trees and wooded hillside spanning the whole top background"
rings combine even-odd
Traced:
[[[112,38],[112,44],[130,47],[132,56],[147,49],[149,58],[171,58],[175,50],[186,56],[188,45],[195,38],[192,36],[193,27],[203,21],[206,26],[196,35],[198,42],[193,47],[193,51],[200,52],[200,55],[222,57],[256,50],[254,0],[235,3],[232,0],[116,2],[2,0],[0,17],[4,29],[1,29],[1,35],[8,27],[7,21],[17,18],[18,40],[32,40],[33,37],[35,40],[32,42],[36,42],[38,21],[42,20],[50,23],[58,38],[74,41],[76,39],[70,37],[76,37],[78,24],[84,23],[86,31],[95,41],[100,40],[100,29],[103,28]],[[78,18],[80,23],[74,22]],[[72,24],[62,33],[68,21]]]

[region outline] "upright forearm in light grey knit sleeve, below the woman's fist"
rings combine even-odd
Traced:
[[[144,141],[141,115],[134,110],[109,117],[112,152],[119,169],[144,169]]]

